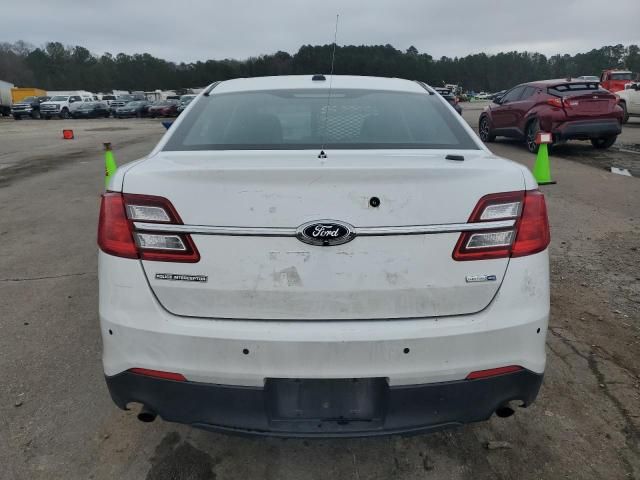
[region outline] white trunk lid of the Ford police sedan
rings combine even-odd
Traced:
[[[327,219],[361,231],[465,223],[484,195],[524,188],[518,166],[480,150],[327,157],[162,152],[129,170],[124,192],[167,197],[196,232],[199,262],[142,261],[158,301],[176,315],[270,320],[439,317],[491,302],[508,259],[455,261],[458,231],[358,235],[333,246],[291,232]]]

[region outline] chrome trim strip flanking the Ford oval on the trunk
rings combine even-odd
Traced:
[[[478,223],[445,223],[440,225],[408,225],[401,227],[356,227],[356,236],[427,235],[434,233],[480,232],[510,228],[516,221],[500,220]],[[194,235],[231,235],[248,237],[295,237],[297,228],[282,227],[213,227],[208,225],[167,225],[134,222],[136,230],[144,232],[192,233]]]

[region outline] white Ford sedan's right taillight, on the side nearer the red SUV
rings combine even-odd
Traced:
[[[513,226],[495,230],[463,232],[453,259],[487,260],[523,257],[543,251],[549,245],[549,221],[544,195],[538,190],[486,195],[469,217],[469,223],[513,220]]]

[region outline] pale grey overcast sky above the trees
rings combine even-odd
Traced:
[[[439,58],[506,50],[546,55],[640,44],[640,0],[2,1],[0,41],[82,45],[172,61],[256,56],[304,44],[390,43]],[[27,13],[29,12],[29,13]]]

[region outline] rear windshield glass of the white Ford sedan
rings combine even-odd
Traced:
[[[165,150],[452,148],[478,146],[436,95],[272,90],[202,97]]]

